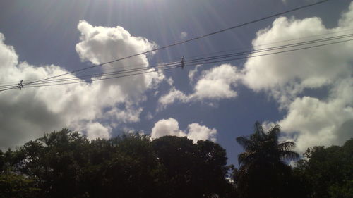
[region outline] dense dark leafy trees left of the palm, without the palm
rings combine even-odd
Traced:
[[[0,152],[0,197],[225,197],[226,163],[210,141],[89,141],[64,129]]]

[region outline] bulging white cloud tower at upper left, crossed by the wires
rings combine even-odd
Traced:
[[[119,58],[124,58],[143,51],[149,51],[156,44],[149,42],[143,37],[133,37],[123,27],[93,27],[85,20],[78,23],[81,32],[80,42],[76,44],[76,51],[82,61],[91,61],[100,64]],[[103,70],[110,71],[112,68],[131,69],[148,67],[148,58],[145,55],[127,58],[122,61],[110,63],[103,66]],[[152,69],[151,69],[152,70]],[[128,78],[116,78],[104,81],[104,86],[116,85],[127,97],[138,99],[146,89],[157,85],[164,79],[162,73],[145,73],[133,75]]]

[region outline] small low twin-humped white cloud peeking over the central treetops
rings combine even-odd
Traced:
[[[211,140],[216,141],[215,135],[217,130],[215,128],[210,129],[204,125],[198,123],[191,123],[188,126],[187,131],[179,129],[179,123],[174,118],[159,120],[155,123],[152,128],[151,137],[158,138],[165,135],[173,135],[177,137],[187,137],[196,143],[198,140]]]

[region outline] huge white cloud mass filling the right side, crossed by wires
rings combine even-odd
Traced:
[[[342,30],[352,27],[353,3],[347,12],[342,13],[338,26],[333,29],[326,28],[316,17],[303,20],[277,18],[271,27],[257,33],[253,47],[258,49],[263,44],[311,35],[344,35],[347,32]],[[352,137],[352,51],[353,42],[344,42],[249,58],[242,71],[242,82],[256,92],[267,92],[279,102],[287,115],[278,123],[287,140],[297,142],[298,151],[317,144],[342,144]],[[316,89],[328,94],[309,95]]]

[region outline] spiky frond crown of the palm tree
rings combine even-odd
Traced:
[[[299,154],[292,151],[294,142],[278,142],[280,126],[275,125],[268,132],[263,131],[260,123],[255,123],[255,132],[249,137],[237,137],[237,142],[245,149],[239,154],[241,166],[249,167],[254,164],[269,164],[276,166],[287,159],[298,159]]]

